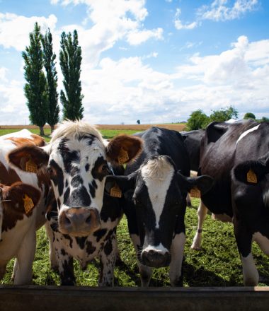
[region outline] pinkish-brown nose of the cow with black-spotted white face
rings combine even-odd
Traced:
[[[59,214],[59,231],[74,236],[86,236],[101,227],[97,209],[69,208]]]

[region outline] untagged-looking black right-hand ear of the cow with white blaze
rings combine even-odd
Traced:
[[[177,172],[178,182],[186,191],[190,192],[192,189],[198,189],[201,194],[208,192],[213,185],[213,178],[207,175],[199,177],[185,177],[180,172]]]

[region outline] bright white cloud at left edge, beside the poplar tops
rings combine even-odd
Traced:
[[[18,51],[25,49],[29,41],[29,33],[33,31],[35,22],[41,27],[41,31],[50,28],[55,29],[57,18],[51,14],[48,18],[44,16],[18,16],[13,13],[0,13],[0,45],[5,48],[13,47]]]

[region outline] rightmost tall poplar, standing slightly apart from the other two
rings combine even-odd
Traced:
[[[81,47],[79,47],[78,34],[62,33],[59,64],[64,76],[64,90],[61,90],[60,100],[63,106],[64,119],[82,119],[84,107],[81,95]]]

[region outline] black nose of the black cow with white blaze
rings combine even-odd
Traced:
[[[142,251],[142,264],[160,268],[161,266],[168,266],[171,262],[171,254],[168,252],[159,252],[156,250]]]

